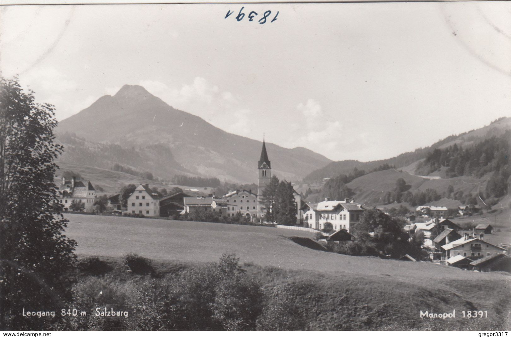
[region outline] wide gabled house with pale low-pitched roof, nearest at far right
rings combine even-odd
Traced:
[[[468,233],[464,233],[463,237],[445,244],[442,246],[442,249],[445,251],[446,259],[456,255],[468,256],[471,259],[476,259],[484,256],[506,253],[504,248],[484,242],[482,234],[471,236]]]

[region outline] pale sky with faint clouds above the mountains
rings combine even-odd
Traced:
[[[3,6],[0,16],[2,75],[55,105],[59,121],[138,84],[225,131],[368,161],[511,116],[511,2]]]

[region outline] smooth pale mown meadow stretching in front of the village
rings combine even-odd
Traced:
[[[380,275],[406,281],[424,279],[505,279],[429,262],[382,260],[312,250],[289,237],[313,233],[280,228],[200,222],[66,214],[66,234],[77,240],[78,255],[121,257],[136,253],[155,260],[217,261],[235,253],[241,262],[322,273]]]

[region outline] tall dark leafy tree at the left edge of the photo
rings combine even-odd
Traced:
[[[57,125],[53,106],[37,104],[17,79],[0,77],[0,329],[44,329],[23,307],[55,310],[63,276],[74,265],[74,240],[64,234],[53,182]]]

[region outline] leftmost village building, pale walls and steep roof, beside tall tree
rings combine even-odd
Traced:
[[[86,212],[94,211],[94,202],[96,201],[96,189],[90,181],[87,180],[87,186],[81,181],[76,181],[76,177],[71,180],[65,180],[62,177],[62,184],[58,190],[58,199],[64,206],[64,210],[69,210],[72,202],[80,202],[85,205]]]

